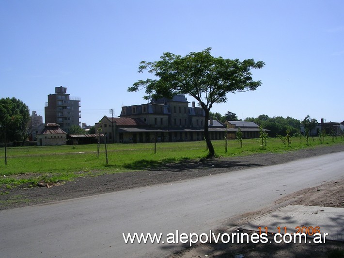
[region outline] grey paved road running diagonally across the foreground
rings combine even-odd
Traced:
[[[162,257],[180,244],[125,244],[122,233],[207,233],[281,194],[343,177],[344,152],[0,211],[1,257]]]

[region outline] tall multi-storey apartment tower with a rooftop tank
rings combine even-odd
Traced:
[[[45,107],[45,122],[59,124],[60,128],[69,132],[71,126],[80,126],[80,97],[70,97],[67,88],[55,87],[55,94],[48,95]]]

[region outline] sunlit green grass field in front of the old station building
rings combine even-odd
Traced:
[[[243,140],[243,147],[236,140],[228,141],[225,152],[225,140],[212,141],[220,157],[250,155],[252,153],[283,152],[317,145],[343,143],[338,137],[333,142],[327,136],[323,144],[318,137],[309,139],[291,138],[291,146],[284,145],[279,138],[268,138],[262,148],[258,139]],[[38,182],[56,183],[71,180],[75,177],[98,176],[101,174],[119,173],[158,167],[164,163],[182,160],[199,160],[208,153],[206,144],[201,142],[157,143],[154,144],[110,144],[106,164],[105,147],[100,146],[99,157],[97,145],[63,145],[33,146],[7,148],[7,162],[4,165],[4,148],[0,148],[0,185],[12,189],[20,184],[37,185]],[[0,193],[1,194],[1,193]],[[3,192],[2,192],[3,194]]]

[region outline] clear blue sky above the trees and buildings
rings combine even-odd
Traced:
[[[44,117],[47,95],[64,86],[81,98],[80,122],[94,125],[145,103],[127,92],[149,76],[137,72],[142,60],[211,47],[266,63],[256,91],[229,94],[212,112],[341,122],[343,14],[343,0],[0,0],[0,97]]]

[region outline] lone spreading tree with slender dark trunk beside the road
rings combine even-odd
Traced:
[[[227,93],[253,91],[261,81],[252,80],[252,69],[260,69],[265,64],[253,59],[224,59],[213,57],[211,48],[201,52],[191,52],[182,57],[169,52],[164,53],[159,61],[142,61],[139,72],[148,71],[157,79],[140,80],[128,88],[135,92],[145,89],[145,99],[190,95],[194,97],[205,112],[204,138],[209,149],[208,157],[215,155],[208,130],[211,108],[215,103],[227,101]]]

